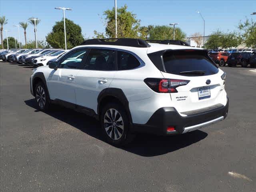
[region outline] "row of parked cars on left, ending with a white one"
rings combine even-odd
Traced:
[[[29,66],[46,66],[68,50],[60,49],[10,49],[0,50],[0,60],[18,62]]]

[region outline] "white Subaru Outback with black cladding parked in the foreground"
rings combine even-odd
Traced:
[[[179,41],[86,40],[33,70],[40,110],[57,103],[100,120],[108,142],[138,132],[183,134],[226,118],[226,73],[204,49]]]

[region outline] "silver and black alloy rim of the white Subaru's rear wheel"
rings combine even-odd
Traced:
[[[104,115],[104,128],[108,136],[118,140],[124,133],[124,120],[116,109],[108,109]]]

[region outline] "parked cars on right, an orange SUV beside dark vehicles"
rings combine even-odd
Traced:
[[[256,68],[256,52],[209,52],[210,58],[220,66],[229,67],[241,65],[242,67],[247,67],[250,65],[251,68]]]

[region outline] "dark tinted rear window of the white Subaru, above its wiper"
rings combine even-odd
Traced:
[[[198,76],[199,74],[188,74],[189,71],[203,71],[204,74],[212,75],[218,73],[218,67],[210,58],[200,51],[169,51],[163,55],[164,67],[167,73]]]

